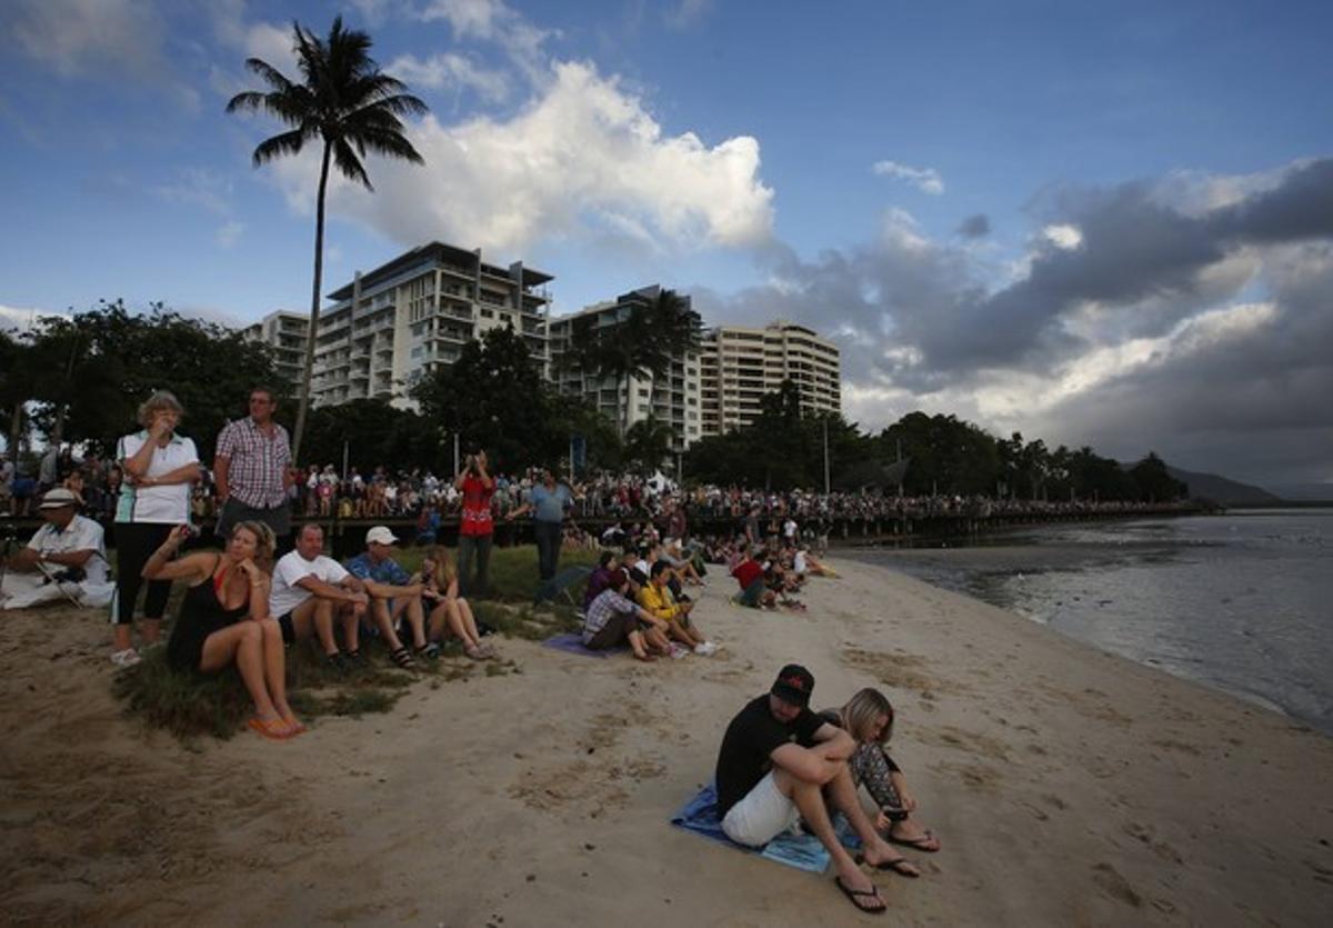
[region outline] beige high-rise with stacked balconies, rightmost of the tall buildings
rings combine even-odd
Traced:
[[[760,415],[760,399],[784,380],[796,384],[802,411],[842,411],[837,345],[804,325],[721,325],[704,335],[701,347],[704,436],[749,425]]]

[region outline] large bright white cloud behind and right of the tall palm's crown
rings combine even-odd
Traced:
[[[337,213],[405,247],[443,237],[517,252],[537,239],[635,229],[685,252],[772,237],[773,192],[758,177],[754,139],[668,136],[591,64],[557,64],[551,85],[509,120],[427,116],[411,135],[425,167],[372,159],[373,195],[331,184]],[[272,167],[297,209],[312,209],[315,159],[311,151]]]

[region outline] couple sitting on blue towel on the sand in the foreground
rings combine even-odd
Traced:
[[[834,881],[862,912],[885,903],[858,864],[920,876],[889,844],[933,853],[940,841],[910,813],[914,800],[884,748],[893,708],[877,689],[862,689],[841,709],[810,712],[814,677],[797,664],[777,675],[772,689],[732,719],[717,755],[717,813],[737,844],[761,847],[802,821],[833,857]],[[880,807],[876,821],[857,796],[862,784]],[[852,857],[838,841],[830,811],[846,816],[861,837]]]

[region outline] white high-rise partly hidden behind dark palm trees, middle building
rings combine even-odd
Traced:
[[[700,405],[700,359],[697,352],[680,352],[670,360],[670,371],[664,377],[599,379],[596,375],[572,371],[561,360],[572,343],[584,332],[605,331],[623,324],[636,307],[651,305],[661,293],[661,287],[644,287],[623,293],[615,300],[597,303],[581,312],[551,320],[551,377],[561,392],[583,396],[597,411],[617,424],[624,432],[649,413],[672,427],[672,451],[682,452],[702,436]],[[689,297],[681,297],[688,312]]]

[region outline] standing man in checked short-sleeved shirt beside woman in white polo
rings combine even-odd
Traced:
[[[249,415],[223,427],[217,435],[213,481],[217,484],[217,537],[229,537],[241,521],[261,521],[273,529],[279,551],[292,533],[292,445],[287,429],[273,421],[277,401],[273,391],[256,387],[249,396]]]

